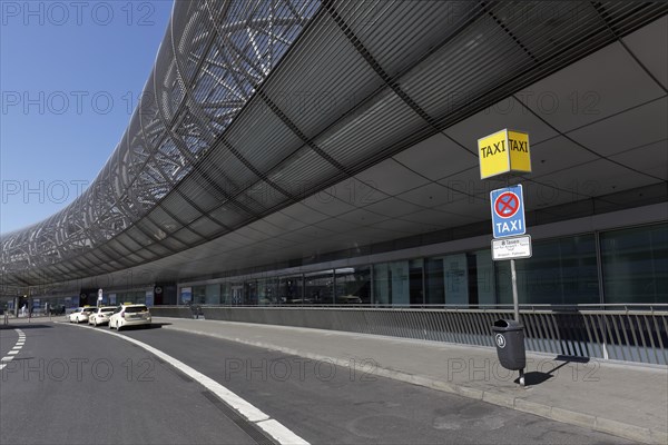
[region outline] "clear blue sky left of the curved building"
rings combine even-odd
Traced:
[[[137,103],[171,0],[0,1],[0,233],[65,208]]]

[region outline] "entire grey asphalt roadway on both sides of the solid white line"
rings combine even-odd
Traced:
[[[58,324],[23,329],[26,346],[13,367],[2,370],[0,443],[263,442],[197,382],[94,330]],[[2,348],[13,342],[6,337],[16,340],[13,332],[0,335]],[[343,368],[159,326],[120,335],[181,360],[312,444],[628,443],[379,377],[363,358]],[[40,359],[43,379],[36,370]],[[69,364],[65,378],[63,363]]]

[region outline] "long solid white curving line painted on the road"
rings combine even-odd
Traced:
[[[59,323],[59,324],[62,324],[66,326],[71,326],[71,325],[68,325],[67,323],[61,323],[61,322],[56,322],[56,323]],[[73,326],[85,327],[85,326],[79,326],[79,325],[73,325]],[[167,354],[163,353],[161,350],[156,349],[155,347],[153,347],[150,345],[147,345],[146,343],[136,340],[134,338],[130,338],[130,337],[127,337],[127,336],[124,336],[124,335],[120,335],[117,333],[112,333],[109,330],[98,330],[98,329],[91,329],[91,330],[95,333],[105,333],[105,334],[114,335],[116,337],[120,337],[120,338],[125,339],[126,342],[134,343],[135,345],[137,345],[137,346],[148,350],[149,353],[154,354],[155,356],[161,358],[169,365],[174,366],[175,368],[177,368],[178,370],[180,370],[181,373],[184,373],[188,377],[193,378],[194,380],[199,383],[202,386],[204,386],[205,388],[207,388],[208,390],[210,390],[212,393],[214,393],[215,395],[220,397],[223,399],[223,402],[225,402],[226,404],[232,406],[234,409],[236,409],[240,415],[246,417],[246,419],[248,419],[249,422],[253,422],[255,425],[261,427],[265,433],[267,433],[269,436],[272,436],[274,439],[276,439],[279,444],[282,444],[282,445],[288,445],[288,444],[289,445],[293,445],[293,444],[310,445],[308,442],[306,442],[302,437],[297,436],[289,428],[287,428],[283,424],[281,424],[278,421],[271,418],[267,414],[263,413],[261,409],[256,408],[250,403],[244,400],[242,397],[237,396],[235,393],[227,389],[225,386],[220,385],[218,382],[205,376],[204,374],[199,373],[198,370],[195,370],[190,366],[171,357],[170,355],[167,355]]]

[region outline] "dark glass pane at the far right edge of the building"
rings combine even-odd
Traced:
[[[668,303],[668,224],[600,239],[606,303]]]

